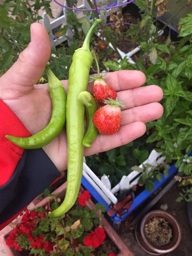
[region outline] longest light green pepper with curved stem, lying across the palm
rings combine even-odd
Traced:
[[[50,216],[64,215],[77,200],[83,172],[84,105],[78,100],[80,92],[87,90],[90,68],[93,62],[90,39],[94,29],[101,22],[94,21],[85,37],[83,46],[73,54],[69,69],[66,103],[66,132],[68,147],[67,188],[62,204],[50,212]]]

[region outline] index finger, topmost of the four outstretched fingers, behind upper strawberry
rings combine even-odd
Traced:
[[[139,70],[119,70],[108,73],[104,80],[118,92],[143,85],[146,77],[144,73]],[[91,83],[91,85],[93,85],[93,83]]]

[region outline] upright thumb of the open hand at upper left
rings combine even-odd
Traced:
[[[27,93],[41,77],[50,53],[51,45],[47,30],[40,23],[32,23],[31,42],[19,54],[13,66],[1,77],[0,89]]]

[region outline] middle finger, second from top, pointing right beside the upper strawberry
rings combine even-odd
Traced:
[[[118,92],[117,97],[126,105],[126,107],[122,109],[125,110],[147,105],[151,102],[158,102],[163,97],[163,91],[157,85],[148,85]]]

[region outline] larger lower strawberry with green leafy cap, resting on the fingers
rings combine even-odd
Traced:
[[[101,134],[115,134],[122,122],[120,107],[125,107],[123,102],[116,100],[104,100],[105,106],[100,107],[93,116],[93,123]]]

